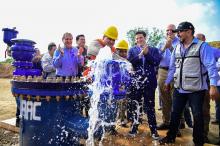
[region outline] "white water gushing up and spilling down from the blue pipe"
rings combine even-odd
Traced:
[[[117,112],[117,106],[115,106],[117,99],[115,99],[114,94],[114,86],[115,82],[117,84],[117,81],[115,80],[123,81],[125,78],[128,78],[126,72],[131,69],[131,64],[124,61],[116,61],[119,65],[119,69],[116,71],[114,64],[111,63],[112,61],[111,49],[105,47],[100,49],[96,60],[89,63],[91,67],[90,76],[93,79],[93,83],[89,86],[92,96],[90,98],[91,107],[89,110],[89,127],[87,129],[87,146],[94,146],[94,140],[97,134],[101,135],[99,139],[103,139],[105,127],[116,124],[114,120],[106,120],[105,116],[108,112],[108,114],[113,115],[111,118],[114,119],[114,115]],[[100,129],[102,131],[101,134],[98,132]]]

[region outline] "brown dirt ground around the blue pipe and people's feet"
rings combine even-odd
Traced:
[[[10,91],[10,79],[0,78],[0,121],[15,117],[16,103],[15,99]],[[158,109],[158,99],[156,97],[156,113],[157,122],[161,123],[161,111]],[[211,120],[214,119],[214,102],[211,102]],[[146,121],[139,128],[137,137],[131,138],[127,135],[129,128],[117,127],[119,135],[107,136],[103,141],[104,146],[145,146],[153,145],[152,138],[150,136],[149,128]],[[218,127],[210,124],[209,139],[212,143],[216,143],[218,140],[217,133]],[[185,128],[181,130],[182,137],[176,139],[176,146],[192,146],[192,129]],[[160,136],[165,136],[166,131],[159,131]],[[6,131],[0,128],[0,145],[18,145],[19,135],[10,131]],[[206,144],[208,146],[208,144]]]

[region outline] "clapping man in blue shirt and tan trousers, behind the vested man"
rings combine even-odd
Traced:
[[[162,59],[160,61],[158,69],[158,90],[160,93],[160,98],[162,100],[162,113],[163,113],[163,123],[158,126],[158,130],[165,130],[169,128],[170,125],[170,113],[172,106],[172,90],[166,92],[164,90],[165,80],[167,78],[171,53],[176,45],[179,43],[179,39],[175,36],[174,30],[176,26],[174,24],[169,24],[166,29],[166,41],[160,44],[160,54]]]

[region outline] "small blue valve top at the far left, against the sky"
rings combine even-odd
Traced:
[[[17,37],[18,31],[15,30],[15,28],[13,28],[13,29],[3,28],[2,31],[4,32],[3,41],[4,41],[8,46],[13,45],[14,43],[11,41],[11,39]]]

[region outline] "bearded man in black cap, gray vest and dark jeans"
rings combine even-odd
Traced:
[[[171,55],[169,73],[165,82],[168,88],[174,80],[173,107],[170,127],[167,136],[159,140],[160,144],[174,143],[181,113],[189,102],[193,118],[193,142],[195,146],[203,146],[203,101],[208,89],[207,74],[210,80],[210,98],[218,96],[216,61],[211,47],[194,38],[194,26],[190,22],[182,22],[175,30],[178,32],[180,44]]]

